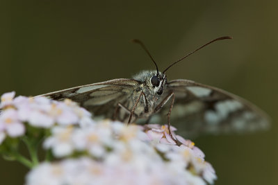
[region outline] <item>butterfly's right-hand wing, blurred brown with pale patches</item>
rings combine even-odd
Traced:
[[[202,85],[191,80],[167,82],[164,96],[174,92],[174,106],[170,120],[181,133],[195,136],[201,133],[248,132],[268,127],[268,116],[247,100],[227,91]],[[156,118],[166,118],[167,103]],[[152,119],[155,120],[155,119]],[[164,120],[165,123],[166,119]]]

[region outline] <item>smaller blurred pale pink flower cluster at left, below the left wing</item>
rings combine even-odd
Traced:
[[[72,100],[63,102],[45,97],[15,97],[15,92],[3,94],[0,103],[0,143],[6,136],[22,136],[28,123],[33,127],[49,128],[55,124],[73,125],[90,122],[90,112]]]

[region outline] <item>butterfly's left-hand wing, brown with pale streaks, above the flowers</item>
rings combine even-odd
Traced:
[[[138,84],[137,80],[119,78],[54,91],[40,96],[47,96],[54,100],[69,98],[79,103],[81,107],[92,112],[95,116],[112,118],[117,103],[126,104]]]

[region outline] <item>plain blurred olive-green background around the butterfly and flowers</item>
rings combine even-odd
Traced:
[[[238,94],[268,112],[268,132],[201,136],[195,143],[218,175],[215,184],[278,184],[278,1],[0,1],[1,89],[34,96],[113,78],[154,64]],[[0,159],[1,184],[23,184],[27,170]]]

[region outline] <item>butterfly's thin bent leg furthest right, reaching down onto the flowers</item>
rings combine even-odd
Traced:
[[[172,131],[171,131],[171,124],[170,124],[170,115],[171,115],[172,108],[173,108],[173,105],[174,105],[174,93],[173,92],[170,93],[168,96],[166,96],[162,100],[162,102],[159,105],[156,106],[156,108],[154,109],[154,113],[158,112],[158,110],[160,110],[168,102],[168,100],[170,100],[170,98],[172,98],[172,101],[171,101],[170,109],[169,109],[168,114],[167,114],[167,126],[168,126],[168,130],[169,130],[169,134],[171,136],[171,139],[179,145],[180,142],[177,141],[177,139],[174,138],[174,136],[172,134]]]

